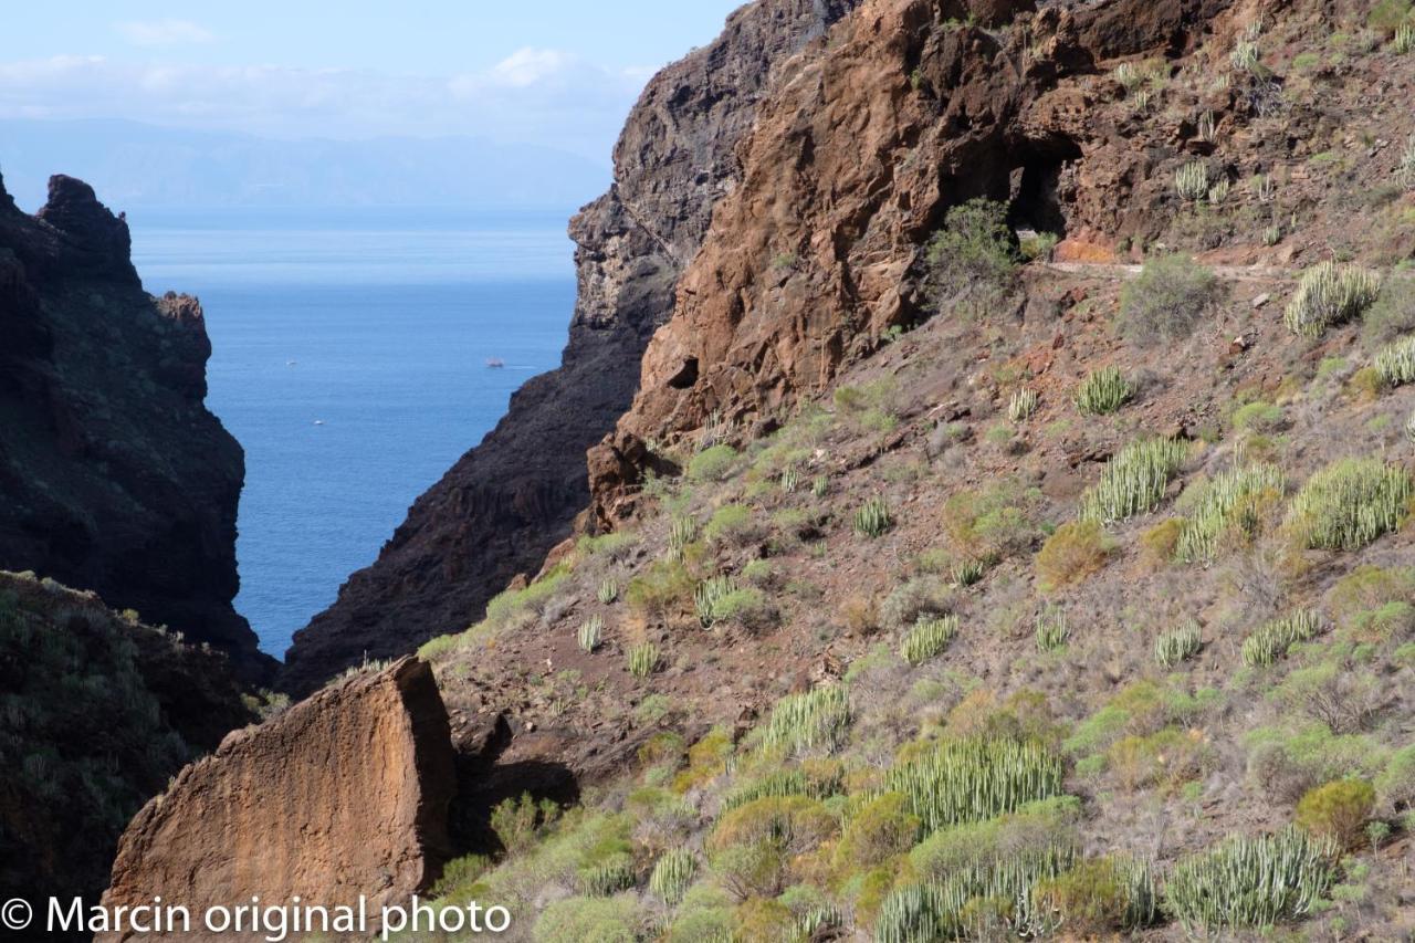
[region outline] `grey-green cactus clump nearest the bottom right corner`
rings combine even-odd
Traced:
[[[1240,835],[1180,859],[1165,903],[1189,933],[1228,936],[1305,916],[1332,886],[1334,865],[1329,841],[1296,828]]]

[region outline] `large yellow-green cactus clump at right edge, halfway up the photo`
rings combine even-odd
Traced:
[[[1286,527],[1310,549],[1360,549],[1399,528],[1415,493],[1409,473],[1380,459],[1340,459],[1313,474]]]

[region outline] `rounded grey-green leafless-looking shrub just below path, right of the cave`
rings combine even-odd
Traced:
[[[1191,258],[1150,256],[1139,278],[1121,293],[1121,333],[1142,347],[1182,341],[1194,333],[1217,296],[1214,273]]]

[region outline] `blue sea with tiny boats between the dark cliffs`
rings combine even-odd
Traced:
[[[147,290],[207,312],[207,405],[246,450],[236,609],[262,648],[282,657],[511,392],[559,364],[569,215],[129,212]]]

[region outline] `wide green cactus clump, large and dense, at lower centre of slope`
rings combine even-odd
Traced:
[[[934,833],[1060,794],[1061,760],[1033,741],[944,741],[932,753],[893,766],[884,787],[901,793],[924,831]]]

